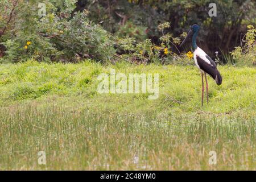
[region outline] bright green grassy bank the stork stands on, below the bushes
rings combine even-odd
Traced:
[[[159,73],[159,98],[148,100],[148,94],[99,94],[100,73]],[[223,84],[209,80],[209,105],[201,108],[201,76],[195,66],[117,65],[96,63],[46,64],[28,61],[0,66],[0,97],[2,106],[35,101],[39,104],[57,102],[80,109],[144,113],[145,111],[232,113],[255,109],[255,68],[219,67]],[[171,96],[170,97],[167,97]],[[176,104],[180,101],[184,104]],[[106,105],[106,102],[108,105]],[[117,104],[118,103],[118,104]],[[195,108],[193,108],[195,107]],[[134,109],[136,108],[136,109]]]

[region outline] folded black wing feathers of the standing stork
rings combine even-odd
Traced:
[[[200,69],[202,69],[204,72],[208,73],[218,85],[222,82],[222,77],[220,75],[220,72],[218,72],[218,69],[216,67],[216,64],[214,61],[207,55],[207,59],[210,61],[211,64],[207,63],[205,60],[201,59],[201,57],[196,56],[197,64],[199,65]]]

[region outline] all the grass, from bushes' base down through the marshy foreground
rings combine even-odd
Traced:
[[[159,98],[99,94],[97,75],[159,73]],[[0,169],[256,169],[256,70],[218,67],[201,102],[195,66],[0,65]],[[38,152],[46,151],[46,166]],[[210,165],[209,152],[217,164]]]

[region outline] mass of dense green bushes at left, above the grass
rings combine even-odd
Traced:
[[[38,15],[37,1],[17,2],[1,2],[2,7],[16,9],[15,14],[9,14],[11,26],[8,24],[0,38],[6,48],[3,60],[18,61],[32,56],[44,61],[76,61],[82,57],[106,61],[114,55],[112,36],[90,22],[88,11],[72,14],[76,1],[65,1],[60,11],[48,1],[47,14],[42,17]]]

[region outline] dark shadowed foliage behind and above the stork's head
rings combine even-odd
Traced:
[[[208,5],[212,2],[217,5],[216,17],[208,15]],[[246,24],[255,24],[256,21],[254,1],[80,0],[77,10],[83,9],[88,9],[90,18],[102,22],[102,26],[111,32],[118,32],[129,21],[135,26],[144,26],[147,37],[156,43],[160,36],[156,30],[160,22],[170,22],[168,31],[174,36],[197,23],[201,26],[199,45],[209,54],[232,51],[240,45]]]

